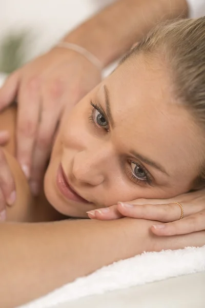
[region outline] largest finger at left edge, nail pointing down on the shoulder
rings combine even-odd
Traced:
[[[15,182],[8,166],[4,151],[0,148],[0,187],[8,205],[16,199]]]

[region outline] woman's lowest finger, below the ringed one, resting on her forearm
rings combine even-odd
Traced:
[[[153,225],[151,230],[158,236],[188,234],[205,230],[205,210],[174,222]]]

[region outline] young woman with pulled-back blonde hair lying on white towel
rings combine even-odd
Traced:
[[[149,220],[65,220],[118,201],[171,198],[203,187],[204,33],[205,18],[157,27],[67,109],[37,200],[13,157],[14,141],[5,147],[17,186],[6,219],[17,223],[0,225],[2,306],[142,251],[205,244],[204,231],[156,237]],[[0,123],[13,134],[15,109]]]

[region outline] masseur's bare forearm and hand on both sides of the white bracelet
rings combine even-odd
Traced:
[[[187,15],[186,0],[118,0],[63,40],[91,52],[104,68],[125,54],[157,22]],[[1,111],[15,99],[18,102],[16,155],[30,179],[33,194],[39,192],[65,107],[73,107],[100,80],[101,71],[85,56],[66,48],[53,48],[12,73],[0,89]],[[3,192],[8,199],[7,190]]]

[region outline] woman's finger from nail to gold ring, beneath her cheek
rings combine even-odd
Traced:
[[[168,204],[129,204],[118,202],[117,209],[124,216],[157,220],[161,222],[175,221],[181,216],[181,208],[176,203]],[[189,215],[188,211],[185,211]]]

